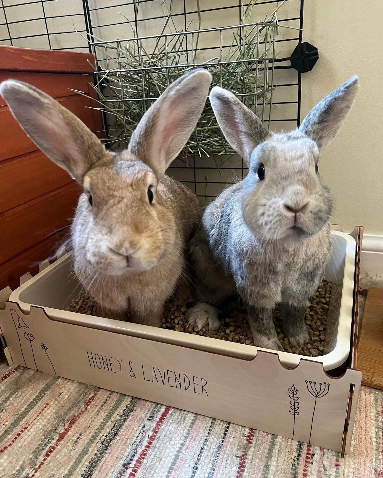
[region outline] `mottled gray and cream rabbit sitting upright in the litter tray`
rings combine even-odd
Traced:
[[[276,304],[282,304],[290,343],[300,347],[308,339],[306,301],[323,278],[332,244],[332,199],[317,163],[345,119],[357,86],[352,76],[289,133],[265,130],[232,93],[211,90],[219,126],[249,172],[210,203],[191,239],[200,302],[187,312],[190,323],[218,328],[215,306],[239,293],[255,345],[283,350],[273,324]]]

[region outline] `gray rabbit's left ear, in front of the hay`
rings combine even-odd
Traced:
[[[230,91],[214,87],[210,103],[228,143],[234,151],[250,163],[253,149],[269,135],[255,114]]]

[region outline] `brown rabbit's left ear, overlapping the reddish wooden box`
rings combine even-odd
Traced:
[[[3,81],[0,93],[31,140],[82,185],[84,175],[105,154],[97,136],[73,113],[28,83]]]

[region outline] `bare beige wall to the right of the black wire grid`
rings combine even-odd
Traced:
[[[319,60],[302,75],[302,114],[353,74],[360,91],[319,165],[335,196],[335,219],[383,234],[383,2],[306,0],[303,38]]]

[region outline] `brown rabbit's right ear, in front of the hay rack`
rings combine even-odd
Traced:
[[[128,151],[161,178],[185,146],[205,106],[211,75],[198,68],[169,85],[143,115]]]

